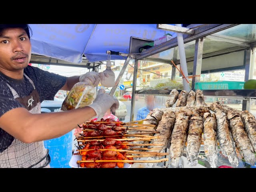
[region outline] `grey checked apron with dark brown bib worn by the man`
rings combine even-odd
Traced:
[[[41,113],[40,98],[36,87],[26,74],[24,76],[34,88],[29,96],[20,98],[18,93],[9,84],[8,87],[14,99],[25,106],[30,113]],[[49,164],[49,150],[44,148],[43,141],[28,144],[14,138],[12,144],[0,153],[0,168],[50,168]]]

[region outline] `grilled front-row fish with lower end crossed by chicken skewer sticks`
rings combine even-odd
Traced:
[[[172,111],[165,111],[162,120],[159,122],[157,131],[160,133],[155,134],[155,136],[160,136],[159,139],[154,139],[151,143],[152,144],[164,144],[161,150],[157,150],[154,152],[164,152],[166,146],[170,140],[170,136],[172,134],[172,129],[175,123],[175,114]],[[153,146],[152,148],[159,148],[159,146]],[[156,160],[159,159],[158,157],[149,157],[147,160]],[[145,168],[153,168],[156,166],[157,163],[146,163]]]

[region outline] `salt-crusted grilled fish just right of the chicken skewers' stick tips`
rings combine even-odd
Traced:
[[[187,140],[189,117],[182,113],[175,113],[175,116],[176,120],[171,136],[170,158],[172,167],[177,168]]]

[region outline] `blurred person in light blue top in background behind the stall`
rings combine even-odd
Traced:
[[[146,95],[145,102],[146,102],[146,107],[142,107],[138,109],[136,121],[145,119],[146,116],[149,114],[149,112],[154,108],[156,108],[154,95]]]

